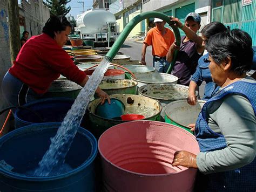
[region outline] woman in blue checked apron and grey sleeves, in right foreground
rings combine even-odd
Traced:
[[[172,165],[205,174],[198,180],[200,191],[203,186],[205,191],[255,191],[256,81],[246,76],[252,66],[252,38],[238,29],[225,31],[211,36],[206,49],[220,89],[196,122],[200,153],[176,152]]]

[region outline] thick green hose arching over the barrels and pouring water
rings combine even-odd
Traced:
[[[116,40],[116,42],[114,42],[114,44],[112,45],[111,49],[109,50],[109,52],[107,52],[106,57],[109,57],[110,60],[112,61],[114,56],[116,56],[118,50],[120,49],[120,47],[123,45],[125,39],[127,38],[127,36],[129,35],[129,33],[131,32],[131,30],[134,28],[134,26],[136,26],[139,22],[141,22],[142,20],[146,19],[146,18],[150,18],[150,17],[156,17],[156,18],[160,18],[163,19],[166,23],[168,23],[171,28],[173,29],[175,38],[176,38],[176,44],[177,46],[180,45],[180,33],[179,33],[179,29],[173,25],[173,23],[170,21],[170,17],[166,16],[164,13],[161,12],[156,12],[156,11],[147,11],[144,13],[141,13],[140,15],[137,15],[136,17],[134,17],[124,28],[124,30],[122,31],[122,33],[120,33],[120,36],[118,37],[118,39]],[[178,50],[174,51],[174,57],[172,60],[172,63],[170,65],[170,67],[168,68],[166,73],[171,73],[173,65],[175,63],[176,57],[178,54]]]

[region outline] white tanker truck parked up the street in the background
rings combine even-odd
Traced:
[[[81,39],[113,43],[119,36],[116,17],[105,9],[91,9],[77,15],[75,32]]]

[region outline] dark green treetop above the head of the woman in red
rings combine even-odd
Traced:
[[[46,5],[50,9],[51,16],[66,15],[70,11],[70,6],[66,8],[71,0],[46,0]]]

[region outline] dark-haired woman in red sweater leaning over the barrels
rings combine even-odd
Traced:
[[[64,16],[52,16],[45,23],[43,33],[26,42],[3,78],[2,91],[10,106],[22,106],[41,98],[60,74],[80,86],[86,84],[86,74],[62,49],[70,31],[71,24]],[[110,102],[109,95],[100,88],[96,93],[102,102],[105,99]]]

